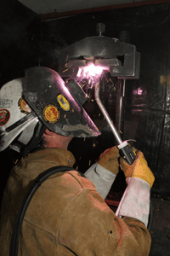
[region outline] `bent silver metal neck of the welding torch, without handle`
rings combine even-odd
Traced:
[[[116,137],[117,143],[119,145],[122,144],[122,138],[119,136],[118,132],[116,131],[115,125],[113,125],[113,122],[111,121],[111,118],[110,118],[109,114],[107,113],[103,103],[100,101],[100,98],[99,98],[99,82],[95,84],[94,96],[95,96],[95,100],[96,100],[101,112],[105,116],[105,119],[106,119],[108,125],[111,127],[111,131],[113,132],[114,136]]]

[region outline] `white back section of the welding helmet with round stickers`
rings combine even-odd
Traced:
[[[21,133],[23,145],[28,143],[37,125],[38,118],[23,97],[24,81],[14,79],[0,89],[0,152]]]

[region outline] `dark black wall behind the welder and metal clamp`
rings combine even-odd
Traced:
[[[105,37],[119,38],[120,32],[128,32],[129,44],[137,47],[141,63],[140,78],[126,81],[123,139],[136,139],[133,146],[144,152],[156,177],[152,195],[170,200],[170,3],[41,21],[21,3],[6,0],[2,2],[0,20],[0,86],[23,77],[28,67],[40,65],[58,71],[59,50],[95,36],[98,22],[105,23]],[[112,102],[106,108],[117,125],[119,82],[115,79],[114,83],[116,90],[111,92]],[[104,102],[107,96],[104,91]],[[95,102],[89,102],[86,108],[102,135],[85,141],[74,138],[71,142],[69,149],[77,159],[75,167],[82,172],[116,143]],[[0,154],[0,169],[6,173],[2,191],[18,157],[9,150]],[[111,189],[122,189],[124,184],[120,172]]]

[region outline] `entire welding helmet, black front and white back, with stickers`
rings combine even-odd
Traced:
[[[37,148],[47,128],[66,137],[99,136],[82,108],[87,100],[73,79],[65,83],[47,67],[27,69],[25,78],[0,90],[0,151],[9,146],[25,155]]]

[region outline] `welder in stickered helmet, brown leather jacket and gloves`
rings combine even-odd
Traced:
[[[16,216],[32,183],[55,166],[73,167],[67,150],[73,137],[97,137],[98,128],[82,108],[87,96],[47,67],[31,67],[25,78],[0,90],[0,151],[10,147],[22,158],[3,192],[0,252],[9,255]],[[77,148],[78,150],[78,148]],[[84,177],[76,170],[48,177],[33,195],[20,230],[18,255],[147,256],[150,189],[155,177],[136,149],[133,165],[116,147],[99,156]],[[119,166],[127,181],[117,214],[105,203]]]

